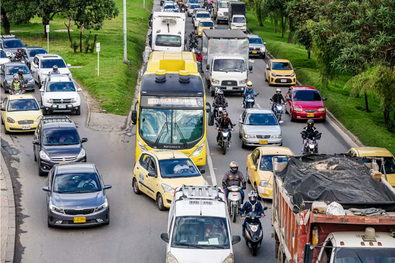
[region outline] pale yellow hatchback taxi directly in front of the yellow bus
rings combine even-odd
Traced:
[[[136,158],[133,170],[135,194],[145,193],[156,200],[159,210],[171,205],[174,189],[185,185],[208,185],[192,160],[176,150],[149,150]]]

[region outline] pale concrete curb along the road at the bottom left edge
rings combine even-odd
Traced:
[[[6,263],[14,262],[15,250],[15,199],[14,188],[12,187],[11,177],[9,175],[8,167],[4,161],[3,154],[0,154],[0,166],[3,169],[4,177],[6,178],[6,188],[8,197],[8,237],[7,237],[7,252]]]

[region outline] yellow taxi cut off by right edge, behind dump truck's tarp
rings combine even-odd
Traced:
[[[354,147],[348,150],[348,153],[352,156],[383,157],[387,181],[395,188],[395,158],[389,150],[379,147]],[[380,166],[381,171],[382,163],[378,161],[377,164]]]

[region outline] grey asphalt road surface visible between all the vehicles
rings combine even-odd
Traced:
[[[159,1],[155,0],[154,11],[159,11]],[[187,17],[186,34],[192,30],[191,18]],[[218,28],[228,28],[226,24]],[[264,40],[264,39],[263,39]],[[201,40],[199,41],[201,43]],[[254,60],[253,73],[248,79],[254,83],[256,98],[259,107],[269,107],[269,98],[275,93],[276,87],[269,87],[263,79],[263,69],[267,60],[250,58]],[[282,88],[285,94],[287,88]],[[34,93],[40,100],[40,92],[36,88]],[[1,90],[0,97],[4,97]],[[83,98],[81,94],[81,98]],[[228,108],[229,117],[237,124],[240,115],[242,97],[228,95],[226,98],[231,107]],[[328,98],[329,100],[331,98]],[[210,95],[207,101],[211,101]],[[45,185],[45,177],[38,176],[38,165],[33,160],[32,134],[5,135],[0,129],[0,145],[6,155],[6,162],[14,178],[14,191],[17,201],[17,250],[15,262],[58,262],[58,263],[89,263],[89,262],[164,262],[166,259],[166,246],[160,239],[160,233],[166,231],[168,212],[157,209],[155,202],[147,196],[135,195],[132,190],[132,169],[134,165],[135,137],[128,137],[124,132],[107,133],[94,131],[85,127],[87,105],[84,101],[80,116],[72,116],[78,126],[81,137],[88,137],[84,144],[87,151],[88,162],[98,165],[106,184],[113,188],[107,191],[111,207],[111,223],[108,226],[90,229],[49,229],[46,219],[45,193],[41,187]],[[304,123],[290,122],[288,115],[284,115],[282,124],[283,145],[290,147],[293,152],[301,150],[301,137],[299,132]],[[236,161],[245,173],[246,156],[253,148],[242,149],[235,127],[233,143],[226,155],[222,155],[216,143],[216,131],[208,127],[208,146],[211,151],[215,177],[221,184],[223,174],[229,169],[229,163]],[[348,150],[349,145],[341,139],[329,124],[317,123],[316,128],[322,132],[320,152],[335,153]],[[208,162],[209,163],[209,162]],[[204,176],[210,178],[210,167],[204,167]],[[252,190],[248,185],[247,193]],[[264,203],[271,207],[271,201]],[[261,219],[264,226],[264,239],[262,247],[256,257],[242,240],[233,246],[235,262],[275,262],[274,240],[271,239],[273,231],[270,223],[270,209],[266,212],[267,218]],[[233,235],[241,235],[241,219],[235,224],[231,223]]]

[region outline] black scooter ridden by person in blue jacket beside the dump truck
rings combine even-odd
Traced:
[[[267,207],[263,207],[266,210]],[[256,256],[256,251],[261,247],[263,239],[262,225],[259,220],[262,216],[252,211],[246,214],[245,240],[248,248],[252,250],[252,255]]]

